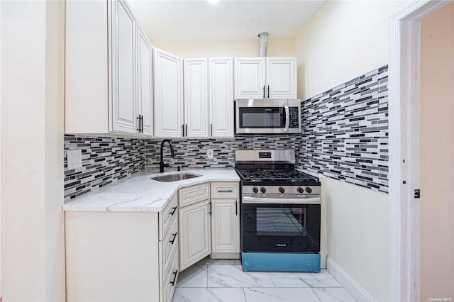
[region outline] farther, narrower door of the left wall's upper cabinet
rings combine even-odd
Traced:
[[[142,116],[143,135],[153,135],[153,49],[138,27],[138,112]],[[137,127],[139,128],[139,127]]]

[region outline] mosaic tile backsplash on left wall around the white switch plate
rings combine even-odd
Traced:
[[[82,167],[67,169],[67,150],[82,151]],[[145,142],[65,135],[65,201],[145,168]]]

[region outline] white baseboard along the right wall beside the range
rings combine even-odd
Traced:
[[[331,276],[334,277],[356,301],[376,301],[367,291],[353,280],[336,262],[330,257],[326,260],[326,268]]]

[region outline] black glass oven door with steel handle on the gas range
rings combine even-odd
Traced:
[[[244,196],[243,252],[320,252],[320,198]]]

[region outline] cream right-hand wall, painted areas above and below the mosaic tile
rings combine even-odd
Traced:
[[[295,38],[298,97],[389,63],[389,17],[409,1],[327,1]],[[388,300],[387,194],[328,179],[328,257],[377,301]]]

